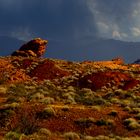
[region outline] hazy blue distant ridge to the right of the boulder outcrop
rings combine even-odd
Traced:
[[[98,37],[79,40],[49,40],[46,56],[71,61],[111,60],[122,57],[126,63],[139,58],[140,42],[126,42]]]

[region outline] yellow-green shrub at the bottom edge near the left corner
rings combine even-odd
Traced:
[[[4,136],[4,140],[19,140],[20,136],[21,134],[10,131]]]

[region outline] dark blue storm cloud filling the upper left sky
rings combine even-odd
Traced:
[[[30,32],[33,36],[75,39],[97,34],[85,0],[2,0],[0,17],[0,30],[15,35]]]

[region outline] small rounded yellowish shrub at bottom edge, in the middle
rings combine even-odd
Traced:
[[[80,137],[75,132],[66,132],[63,134],[65,140],[80,140]]]

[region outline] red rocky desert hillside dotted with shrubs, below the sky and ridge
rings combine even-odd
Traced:
[[[0,139],[140,139],[140,65],[1,57]]]

